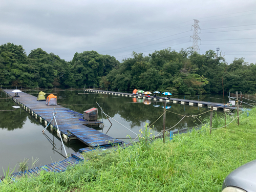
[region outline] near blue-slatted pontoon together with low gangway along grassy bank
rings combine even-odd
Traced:
[[[60,130],[60,135],[58,136],[62,136],[63,139],[66,139],[66,141],[76,138],[82,143],[88,145],[88,147],[81,148],[78,152],[71,154],[71,157],[65,160],[50,163],[40,167],[35,167],[29,170],[25,170],[24,172],[14,173],[10,176],[13,179],[23,177],[24,175],[36,176],[39,175],[41,170],[56,173],[63,172],[67,169],[68,166],[73,166],[84,160],[81,153],[90,152],[97,148],[107,149],[117,147],[119,145],[124,147],[123,141],[100,133],[99,131],[86,126],[86,124],[102,123],[101,121],[83,120],[83,114],[81,113],[64,108],[60,105],[46,105],[45,101],[37,101],[37,97],[24,92],[18,93],[19,97],[13,97],[15,95],[12,93],[13,90],[3,91],[10,98],[12,98],[15,103],[19,104],[24,110],[38,119],[40,123],[44,125],[48,125],[53,117],[53,112],[57,112],[56,121]],[[51,122],[50,126],[51,130],[57,130],[57,127],[53,124],[53,121]]]

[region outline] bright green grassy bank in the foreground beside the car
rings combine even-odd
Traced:
[[[229,116],[227,123],[231,121]],[[225,121],[214,118],[213,126]],[[147,137],[148,132],[143,133]],[[224,178],[256,159],[256,110],[240,115],[227,129],[208,125],[172,141],[143,140],[125,150],[84,154],[88,161],[66,172],[41,172],[16,182],[4,180],[1,191],[220,191]],[[99,155],[100,154],[100,155]]]

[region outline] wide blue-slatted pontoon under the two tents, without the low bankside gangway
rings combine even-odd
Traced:
[[[9,97],[12,97],[14,102],[22,105],[22,108],[31,113],[32,116],[34,116],[36,119],[39,119],[39,121],[45,125],[47,125],[51,121],[53,117],[53,112],[57,112],[56,120],[59,130],[61,132],[61,135],[67,140],[70,137],[76,137],[78,140],[90,147],[104,146],[109,145],[109,143],[117,144],[123,142],[84,125],[86,124],[86,122],[91,121],[84,121],[82,119],[83,114],[69,110],[60,105],[46,105],[45,101],[37,101],[37,97],[24,92],[18,93],[19,97],[13,97],[13,90],[3,91]],[[56,129],[57,127],[54,126],[53,123],[51,123],[51,128]]]

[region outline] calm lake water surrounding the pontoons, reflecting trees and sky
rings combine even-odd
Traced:
[[[38,93],[37,91],[27,92],[30,94]],[[145,122],[150,125],[155,122],[163,114],[163,102],[157,101],[144,101],[143,99],[136,99],[131,97],[122,97],[106,94],[93,94],[83,91],[54,91],[48,90],[46,93],[55,93],[60,105],[74,110],[79,113],[90,108],[98,108],[96,102],[99,103],[103,111],[120,122],[124,126],[131,129],[133,132],[139,134],[139,130],[143,129]],[[35,95],[37,96],[37,95]],[[0,110],[13,110],[12,106],[15,103],[11,99],[3,99],[7,96],[1,92],[0,95]],[[184,95],[173,95],[175,98],[184,98]],[[186,99],[191,100],[203,100],[210,102],[223,103],[223,95],[198,95],[186,96]],[[228,99],[225,98],[225,102]],[[199,108],[198,106],[189,106],[176,103],[166,103],[166,106],[170,106],[166,112],[166,129],[173,127],[177,124],[182,116],[177,115],[197,115],[208,111],[208,108]],[[176,114],[175,114],[176,113]],[[223,113],[223,111],[218,111]],[[209,119],[210,113],[205,113],[199,117],[200,121]],[[110,122],[104,115],[101,116],[99,110],[99,118],[103,117],[104,128],[99,130],[102,133],[108,132],[108,135],[114,138],[121,139],[129,142],[131,138],[135,138],[136,135],[129,130],[126,130],[123,126],[110,119],[112,126],[110,128]],[[201,122],[197,118],[186,117],[172,130],[182,130],[187,127],[198,126]],[[163,117],[159,118],[154,123],[154,134],[157,135],[163,128]],[[52,133],[49,129],[42,134],[44,125],[40,124],[34,117],[28,114],[23,109],[16,109],[15,111],[0,112],[0,176],[4,175],[3,169],[18,168],[18,162],[24,161],[25,158],[29,159],[29,168],[31,166],[32,158],[38,158],[39,162],[36,166],[49,164],[55,161],[64,159],[65,154],[60,139],[55,133]],[[66,151],[68,154],[77,152],[79,148],[86,147],[85,144],[78,140],[65,143]]]

